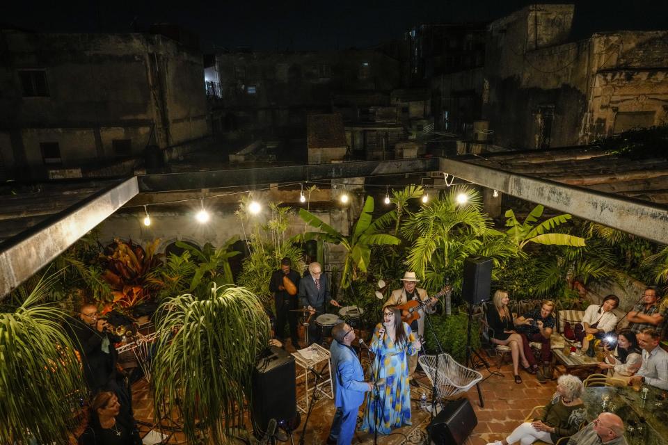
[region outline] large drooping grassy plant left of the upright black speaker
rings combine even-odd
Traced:
[[[212,284],[210,298],[177,296],[159,311],[158,332],[171,338],[159,342],[154,357],[155,412],[180,406],[187,442],[196,442],[196,423],[204,421],[211,442],[223,444],[244,425],[253,367],[269,342],[262,303],[243,287]]]

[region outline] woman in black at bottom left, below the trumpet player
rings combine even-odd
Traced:
[[[97,393],[90,402],[88,427],[79,437],[79,445],[138,445],[134,425],[122,421],[120,403],[111,391]]]

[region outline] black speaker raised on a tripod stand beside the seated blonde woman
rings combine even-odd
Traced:
[[[471,324],[473,323],[473,305],[477,305],[489,299],[492,283],[492,259],[487,257],[470,257],[464,260],[464,280],[461,285],[461,296],[468,302],[468,327],[466,328],[466,364],[471,369],[485,366],[490,375],[503,374],[496,371],[492,372],[489,368],[489,362],[481,357],[476,350],[471,348]],[[473,363],[473,356],[479,362]],[[485,403],[482,400],[482,391],[480,391],[480,383],[475,384],[478,390],[478,398],[480,400],[480,407],[484,407]]]

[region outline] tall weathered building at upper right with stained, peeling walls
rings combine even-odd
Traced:
[[[571,20],[568,8],[538,5],[490,26],[482,116],[496,144],[580,145],[666,122],[668,32],[563,43]]]

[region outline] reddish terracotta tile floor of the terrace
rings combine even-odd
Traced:
[[[291,347],[287,346],[288,350]],[[292,351],[292,350],[291,350]],[[493,357],[492,362],[495,360]],[[493,366],[493,370],[496,367]],[[489,373],[486,369],[478,369],[483,375],[487,377]],[[563,369],[561,370],[563,371]],[[536,405],[544,405],[554,394],[556,388],[556,380],[548,380],[544,385],[541,385],[533,375],[520,371],[523,378],[523,383],[517,385],[513,380],[512,367],[509,364],[504,364],[501,368],[503,377],[492,375],[480,384],[482,389],[484,408],[479,406],[478,395],[475,387],[470,389],[466,397],[472,403],[477,419],[478,425],[466,441],[468,445],[484,445],[495,439],[502,439],[513,428],[523,421],[525,416],[529,414],[532,407]],[[558,374],[558,372],[557,372]],[[429,380],[422,376],[417,379],[429,395]],[[148,385],[144,380],[136,383],[133,387],[134,410],[136,419],[141,421],[152,421],[153,412],[150,401],[150,394]],[[379,436],[379,444],[399,445],[399,444],[417,444],[424,442],[425,428],[429,423],[429,413],[419,409],[419,401],[422,391],[420,389],[412,388],[411,398],[413,398],[413,425],[404,426],[395,430],[396,434],[389,436]],[[361,413],[361,411],[360,411]],[[331,420],[334,414],[334,403],[326,398],[324,401],[319,401],[314,407],[311,414],[308,428],[305,434],[305,444],[321,445],[326,443],[327,435],[331,425]],[[305,416],[302,416],[302,421]],[[358,419],[359,420],[359,419]],[[294,442],[299,441],[299,436],[303,424],[294,432]],[[141,428],[142,432],[148,431],[148,428]],[[356,440],[353,444],[373,444],[373,435],[358,432]],[[170,443],[182,443],[182,437],[175,435]],[[289,443],[289,442],[288,442]]]

